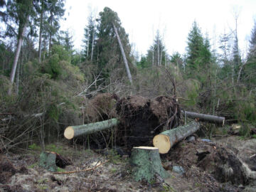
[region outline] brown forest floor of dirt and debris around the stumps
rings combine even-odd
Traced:
[[[215,169],[215,164],[225,167],[234,163],[230,155],[234,154],[246,163],[251,176],[256,176],[256,139],[229,136],[210,142],[180,142],[168,155],[161,156],[169,178],[152,183],[133,181],[129,157],[118,156],[112,150],[98,154],[65,142],[46,146],[72,161],[65,169],[58,169],[60,172],[87,169],[110,160],[93,171],[53,174],[39,166],[40,151],[36,148],[0,156],[0,191],[256,191],[256,180],[243,181],[240,169],[233,167],[231,176],[225,169]],[[174,165],[182,166],[185,173],[172,171]]]

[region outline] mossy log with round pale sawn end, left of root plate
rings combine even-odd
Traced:
[[[118,124],[117,119],[109,119],[103,122],[95,122],[90,124],[81,124],[77,126],[70,126],[65,129],[64,136],[66,139],[73,139],[82,134],[92,134],[100,132],[104,129],[110,129],[111,127]]]

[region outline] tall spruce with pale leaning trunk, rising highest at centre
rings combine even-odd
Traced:
[[[132,76],[127,63],[127,60],[132,60],[130,58],[131,46],[117,13],[105,7],[100,12],[100,18],[97,19],[97,22],[95,58],[98,68],[104,70],[105,77],[107,77],[110,71],[125,66],[129,82],[132,83]],[[120,63],[124,63],[124,65],[120,65]],[[123,74],[119,75],[123,76]]]

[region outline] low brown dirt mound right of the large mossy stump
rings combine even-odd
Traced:
[[[192,166],[212,174],[223,183],[231,181],[233,184],[247,183],[247,177],[242,169],[242,162],[230,149],[210,142],[197,140],[195,142],[180,142],[169,152],[169,161],[175,161],[186,167],[187,174],[192,175]]]

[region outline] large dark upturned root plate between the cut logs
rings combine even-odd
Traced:
[[[129,96],[117,102],[117,114],[124,124],[119,135],[130,149],[132,146],[151,146],[156,134],[177,127],[181,110],[175,97],[159,96],[150,100]]]

